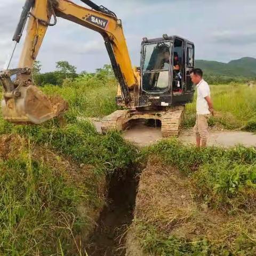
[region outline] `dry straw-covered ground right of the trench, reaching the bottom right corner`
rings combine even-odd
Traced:
[[[149,161],[140,178],[127,255],[206,255],[203,250],[217,253],[207,255],[255,255],[254,214],[211,209],[195,193],[190,177]]]

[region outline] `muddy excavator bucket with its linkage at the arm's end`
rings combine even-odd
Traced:
[[[4,87],[1,108],[6,121],[41,124],[68,109],[65,100],[58,96],[47,97],[33,84],[29,68],[2,71],[0,79]]]

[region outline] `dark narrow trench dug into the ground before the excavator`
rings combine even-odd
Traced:
[[[89,256],[124,256],[126,230],[133,220],[139,175],[127,172],[122,178],[113,175],[109,179],[107,204],[89,242]]]

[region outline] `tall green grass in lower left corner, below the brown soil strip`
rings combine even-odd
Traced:
[[[0,170],[1,255],[52,255],[57,238],[67,252],[73,241],[64,223],[74,225],[74,233],[90,225],[77,218],[82,187],[35,159],[9,159]]]

